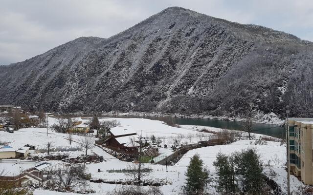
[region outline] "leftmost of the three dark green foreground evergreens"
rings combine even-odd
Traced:
[[[203,161],[200,159],[199,154],[194,155],[190,159],[185,176],[187,177],[185,193],[193,195],[202,194],[205,182],[209,178],[209,170],[203,168]]]

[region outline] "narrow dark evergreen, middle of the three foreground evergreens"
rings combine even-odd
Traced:
[[[234,170],[232,168],[229,156],[221,152],[216,155],[216,160],[213,162],[217,175],[219,176],[218,184],[224,192],[234,192]]]

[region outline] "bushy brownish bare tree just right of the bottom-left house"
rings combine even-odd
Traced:
[[[52,171],[52,179],[66,190],[80,187],[85,181],[84,167],[83,165],[63,166]]]

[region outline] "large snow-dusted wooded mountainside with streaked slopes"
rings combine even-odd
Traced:
[[[50,112],[313,117],[313,44],[170,7],[108,39],[83,37],[0,66],[0,104]]]

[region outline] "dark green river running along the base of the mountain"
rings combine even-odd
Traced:
[[[112,116],[107,116],[112,117]],[[153,120],[161,120],[171,122],[178,125],[201,125],[208,127],[217,127],[232,130],[242,130],[243,122],[226,121],[226,120],[212,120],[204,118],[182,118],[182,117],[148,117],[148,116],[114,116],[122,118],[149,118]],[[253,123],[253,132],[256,134],[263,134],[271,137],[285,138],[285,128],[278,125]]]

